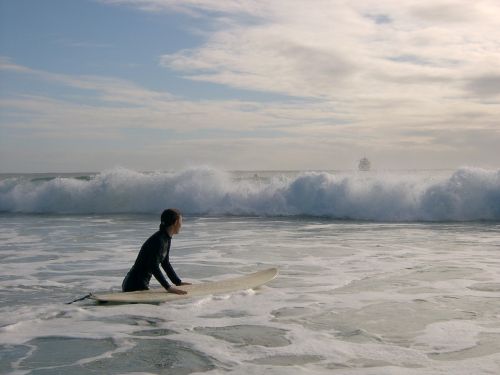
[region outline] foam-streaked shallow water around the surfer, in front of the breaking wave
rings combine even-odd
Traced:
[[[0,373],[496,374],[498,223],[187,216],[185,280],[257,291],[66,305],[119,289],[158,215],[0,215]],[[155,282],[153,281],[153,284]]]

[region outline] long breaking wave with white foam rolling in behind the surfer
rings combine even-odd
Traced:
[[[86,179],[7,178],[0,211],[317,216],[372,221],[500,220],[500,171],[275,173],[237,178],[214,168],[140,173],[124,168]]]

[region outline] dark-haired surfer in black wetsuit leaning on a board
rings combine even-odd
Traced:
[[[151,276],[169,292],[186,294],[186,291],[172,287],[163,276],[160,265],[168,278],[176,285],[190,285],[182,282],[170,264],[169,254],[172,236],[178,234],[182,226],[182,215],[177,209],[169,208],[161,214],[161,224],[158,232],[149,237],[141,247],[137,259],[125,276],[122,284],[124,292],[148,290]]]

